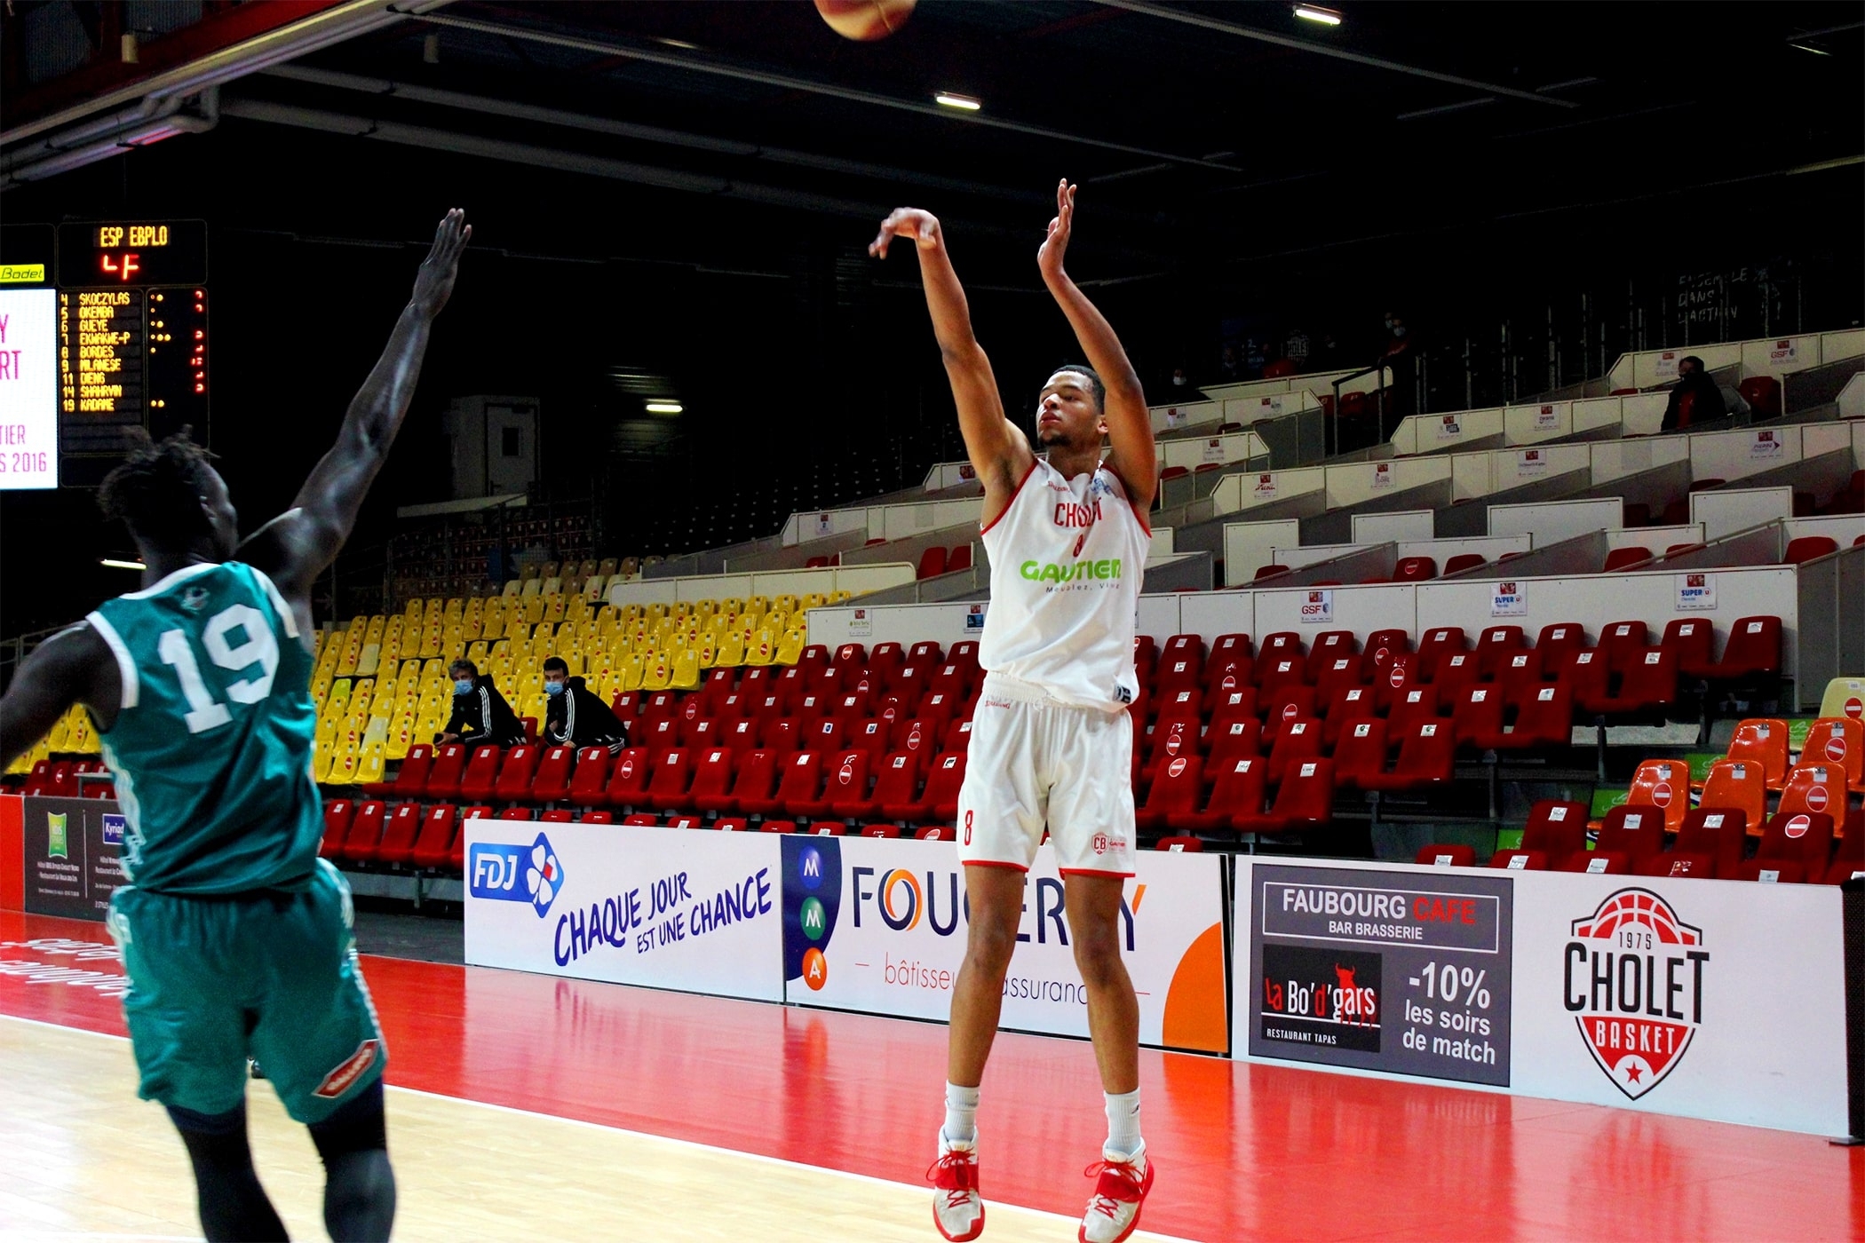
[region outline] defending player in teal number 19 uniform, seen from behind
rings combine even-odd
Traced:
[[[110,932],[138,1092],[181,1131],[209,1239],[285,1237],[246,1146],[248,1057],[311,1129],[330,1237],[386,1239],[395,1221],[388,1047],[349,885],[317,857],[310,598],[388,458],[470,237],[448,212],[336,447],[244,542],[207,453],[186,432],[144,438],[99,490],[144,589],[47,639],[0,699],[0,766],[73,703],[97,723],[127,822]]]

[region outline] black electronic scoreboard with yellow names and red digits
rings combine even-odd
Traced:
[[[123,430],[207,436],[207,222],[58,227],[63,483],[95,485]]]

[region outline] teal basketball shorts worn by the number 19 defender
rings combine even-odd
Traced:
[[[382,1075],[388,1044],[356,963],[349,883],[198,898],[117,889],[136,1094],[201,1114],[246,1100],[246,1059],[295,1120],[323,1122]]]

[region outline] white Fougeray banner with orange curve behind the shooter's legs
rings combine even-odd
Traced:
[[[966,941],[964,876],[951,842],[781,842],[785,999],[946,1021]],[[1140,997],[1140,1042],[1223,1053],[1223,859],[1141,852],[1134,867],[1121,906],[1121,947]],[[1087,1034],[1087,995],[1048,846],[1024,881],[1002,1025]]]

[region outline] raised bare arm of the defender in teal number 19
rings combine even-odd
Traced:
[[[435,244],[414,278],[414,296],[395,321],[382,358],[351,399],[338,444],[311,470],[293,507],[241,546],[239,559],[270,574],[287,598],[302,598],[356,526],[362,498],[388,460],[401,419],[408,414],[427,335],[453,293],[461,252],[470,239],[466,214],[449,211],[435,229]]]

